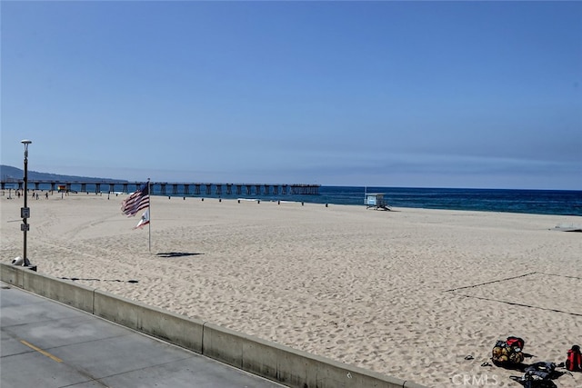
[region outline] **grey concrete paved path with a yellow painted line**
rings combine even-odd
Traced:
[[[2,388],[284,386],[0,285]]]

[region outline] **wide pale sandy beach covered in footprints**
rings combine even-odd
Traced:
[[[520,387],[509,376],[522,373],[481,366],[497,340],[522,337],[526,363],[582,344],[582,234],[552,230],[582,217],[157,196],[150,252],[139,215],[121,214],[126,195],[44,194],[28,199],[39,273],[343,363]],[[9,263],[23,254],[23,201],[6,196]],[[555,383],[580,387],[582,373]]]

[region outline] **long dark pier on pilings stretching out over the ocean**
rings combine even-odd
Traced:
[[[80,193],[122,193],[135,192],[146,182],[127,181],[52,181],[28,180],[28,189],[35,191],[66,191]],[[168,183],[150,182],[153,195],[316,195],[320,184],[211,184],[211,183]],[[0,189],[22,190],[23,180],[6,179],[0,182]]]

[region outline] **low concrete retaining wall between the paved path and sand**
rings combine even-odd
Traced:
[[[426,388],[24,267],[0,263],[0,280],[289,387]]]

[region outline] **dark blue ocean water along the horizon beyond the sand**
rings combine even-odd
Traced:
[[[93,187],[92,187],[93,186]],[[117,185],[119,186],[119,185]],[[47,190],[46,187],[39,187]],[[116,187],[115,189],[119,189]],[[31,189],[31,187],[29,187]],[[80,184],[72,184],[71,189],[81,191]],[[95,193],[95,186],[87,184],[85,187],[89,193]],[[102,190],[107,185],[101,186]],[[130,191],[135,190],[135,184],[129,184]],[[184,186],[178,184],[178,193],[184,193]],[[190,186],[188,197],[200,198],[253,198],[262,201],[294,201],[314,204],[364,204],[366,193],[384,194],[387,204],[396,207],[413,207],[425,209],[449,209],[471,210],[484,212],[508,212],[526,214],[556,214],[556,215],[582,215],[582,191],[566,190],[501,190],[501,189],[459,189],[459,188],[406,188],[406,187],[363,187],[363,186],[321,186],[319,194],[270,194],[256,193],[256,187],[252,187],[251,194],[226,194],[223,186],[222,194],[216,194],[216,186],[211,186],[211,194],[206,194],[203,185],[201,194],[192,194],[194,187]],[[280,192],[281,190],[279,190]],[[166,193],[171,193],[172,188],[166,186]],[[152,194],[183,197],[184,194],[162,194],[159,184],[152,185]],[[124,194],[119,194],[123,198]]]

